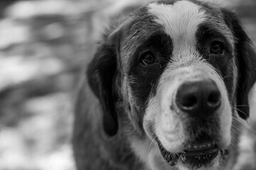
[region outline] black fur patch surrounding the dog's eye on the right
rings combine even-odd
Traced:
[[[211,23],[203,23],[198,26],[196,33],[197,49],[210,64],[213,65],[216,72],[223,78],[228,90],[230,101],[233,100],[233,49],[223,33],[220,33]],[[210,45],[213,41],[218,40],[223,43],[223,54],[210,54]]]

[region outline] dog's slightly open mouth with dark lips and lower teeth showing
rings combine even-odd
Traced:
[[[161,155],[171,166],[175,166],[180,161],[190,169],[199,169],[201,166],[208,166],[219,153],[222,155],[223,152],[215,142],[203,141],[186,145],[182,152],[171,153],[164,149],[159,140],[156,141]]]

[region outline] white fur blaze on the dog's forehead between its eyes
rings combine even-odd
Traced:
[[[196,30],[206,21],[206,13],[191,1],[177,1],[171,4],[149,4],[149,13],[156,16],[156,22],[164,26],[174,42],[174,55],[196,47]],[[181,53],[179,53],[181,55]]]

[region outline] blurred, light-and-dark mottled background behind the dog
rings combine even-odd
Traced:
[[[75,169],[70,138],[82,66],[110,18],[149,1],[0,1],[0,170]],[[256,1],[215,1],[238,12],[255,42]]]

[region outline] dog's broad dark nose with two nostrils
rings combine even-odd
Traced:
[[[182,111],[206,118],[220,106],[220,91],[212,80],[186,82],[178,89],[176,103]]]

